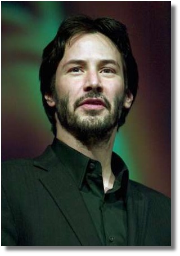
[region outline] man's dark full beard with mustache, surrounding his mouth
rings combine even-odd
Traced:
[[[72,134],[78,141],[86,146],[97,145],[109,140],[123,109],[124,94],[122,97],[115,97],[113,105],[98,92],[89,92],[86,96],[75,101],[73,108],[69,105],[69,94],[59,97],[54,93],[56,102],[56,113],[60,124],[66,131]],[[107,114],[101,115],[101,110],[86,110],[76,113],[80,102],[86,98],[101,98],[106,105]],[[104,110],[103,110],[104,111]]]

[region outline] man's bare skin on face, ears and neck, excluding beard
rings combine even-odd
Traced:
[[[114,111],[115,96],[123,97],[125,89],[122,57],[118,49],[101,33],[74,36],[66,45],[64,57],[57,67],[55,88],[57,96],[68,94],[69,108],[79,120],[105,120]],[[92,90],[106,97],[111,108],[95,100],[96,103],[85,102],[74,109],[74,102]],[[56,105],[52,96],[46,95],[45,98],[49,106]],[[132,94],[125,95],[124,107],[131,107],[132,101]],[[89,116],[89,110],[95,110],[96,116]],[[55,117],[57,138],[89,158],[98,160],[102,166],[105,192],[112,188],[115,177],[111,171],[111,154],[117,127],[111,131],[108,140],[86,146],[62,127],[56,114]]]

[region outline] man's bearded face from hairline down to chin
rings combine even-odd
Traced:
[[[109,38],[91,33],[70,40],[56,70],[53,104],[60,125],[78,140],[103,140],[113,132],[122,107],[131,104],[122,58]]]

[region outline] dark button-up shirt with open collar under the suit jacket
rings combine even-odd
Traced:
[[[52,149],[77,184],[102,245],[127,245],[128,170],[123,160],[113,153],[111,170],[115,181],[113,188],[105,193],[100,162],[86,157],[57,138]]]

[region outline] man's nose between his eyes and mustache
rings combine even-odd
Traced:
[[[91,90],[96,90],[101,93],[103,90],[100,77],[97,71],[87,72],[86,82],[84,83],[84,91],[89,92]]]

